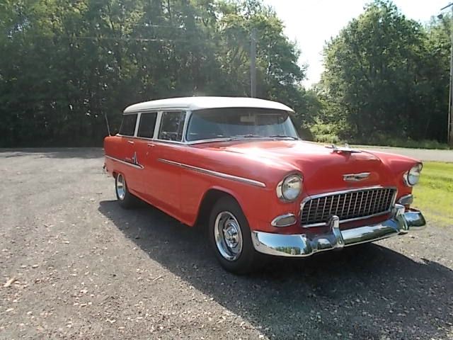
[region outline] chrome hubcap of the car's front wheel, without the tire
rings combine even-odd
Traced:
[[[214,223],[214,237],[217,249],[224,259],[234,261],[242,251],[242,233],[238,220],[231,212],[222,211]]]

